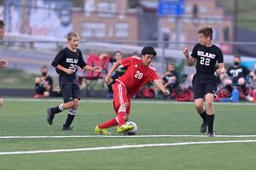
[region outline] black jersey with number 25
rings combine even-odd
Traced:
[[[71,51],[68,48],[63,48],[56,56],[55,59],[52,61],[51,65],[56,67],[57,65],[61,65],[64,68],[73,70],[73,76],[76,74],[78,70],[78,65],[81,68],[84,68],[87,65],[84,62],[82,52],[77,49],[76,52]],[[56,72],[60,75],[68,75],[66,72],[61,71],[56,68]]]

